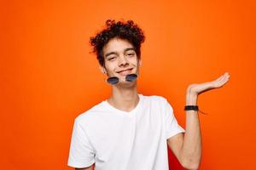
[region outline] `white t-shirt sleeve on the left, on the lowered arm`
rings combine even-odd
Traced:
[[[84,127],[75,121],[67,165],[70,167],[90,167],[94,162],[95,153]]]

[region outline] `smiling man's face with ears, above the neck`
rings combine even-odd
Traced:
[[[125,81],[126,75],[138,75],[141,60],[137,59],[135,48],[130,42],[113,38],[102,50],[105,59],[105,68],[102,67],[102,71],[107,72],[108,77],[119,77],[120,83],[129,83]]]

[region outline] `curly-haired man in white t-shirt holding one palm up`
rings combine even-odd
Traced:
[[[183,167],[198,169],[201,130],[197,96],[222,87],[229,74],[189,86],[185,131],[165,98],[137,93],[143,31],[131,20],[107,20],[106,26],[90,43],[112,84],[112,95],[75,119],[68,165],[86,170],[167,170],[168,146]]]

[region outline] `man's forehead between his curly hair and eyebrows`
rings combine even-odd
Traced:
[[[102,48],[103,54],[110,52],[122,53],[126,48],[133,48],[131,42],[128,42],[125,39],[113,38],[108,41],[108,43]]]

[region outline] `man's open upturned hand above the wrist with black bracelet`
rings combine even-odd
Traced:
[[[221,88],[224,86],[226,82],[229,81],[230,74],[228,72],[224,73],[221,77],[218,77],[216,80],[212,82],[203,82],[200,84],[191,84],[189,85],[189,88],[187,89],[187,92],[189,94],[199,95],[203,92],[206,92],[208,90],[214,89],[214,88]]]

